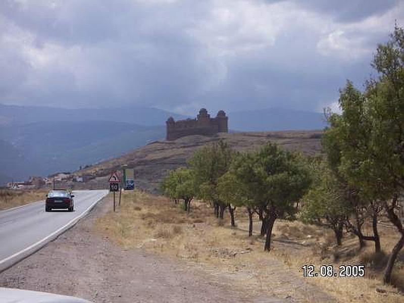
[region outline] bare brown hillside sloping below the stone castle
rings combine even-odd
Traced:
[[[112,171],[127,165],[128,168],[135,170],[137,187],[156,192],[167,170],[184,166],[192,153],[206,144],[224,140],[236,150],[248,151],[273,141],[286,149],[300,150],[305,154],[313,155],[320,153],[320,138],[319,130],[221,133],[213,137],[186,136],[174,141],[151,142],[119,158],[98,163],[75,174],[91,179],[86,182],[86,187],[105,186]]]

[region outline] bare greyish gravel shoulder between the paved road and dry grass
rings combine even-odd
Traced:
[[[53,292],[93,302],[292,302],[251,296],[232,279],[142,249],[123,249],[92,233],[111,209],[101,201],[76,226],[35,254],[0,273],[0,286]]]

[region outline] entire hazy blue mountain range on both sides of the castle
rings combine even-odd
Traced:
[[[215,113],[211,113],[215,116]],[[0,104],[0,184],[74,171],[165,137],[165,121],[188,118],[145,107],[61,109]],[[323,115],[284,109],[228,113],[232,131],[322,129]]]

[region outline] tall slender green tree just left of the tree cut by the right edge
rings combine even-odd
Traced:
[[[365,241],[374,241],[375,251],[381,250],[377,220],[381,211],[376,196],[369,194],[371,175],[364,169],[369,151],[371,126],[365,95],[352,82],[340,90],[341,115],[330,114],[330,127],[324,131],[322,143],[328,166],[339,181],[342,203],[350,206],[344,225],[348,232],[358,236],[360,248]],[[354,217],[352,223],[351,217]],[[372,220],[373,235],[364,235],[365,220]]]

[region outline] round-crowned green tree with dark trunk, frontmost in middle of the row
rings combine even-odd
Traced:
[[[275,220],[295,212],[293,205],[310,185],[309,172],[297,154],[268,142],[244,159],[236,175],[251,194],[248,198],[263,212],[266,225],[264,250],[269,251]]]

